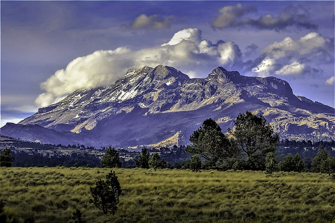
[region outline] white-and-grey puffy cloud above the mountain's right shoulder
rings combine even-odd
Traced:
[[[331,63],[334,59],[334,43],[319,33],[311,32],[293,40],[285,37],[261,50],[262,55],[253,64],[252,72],[258,76],[317,74],[309,63]],[[260,61],[260,62],[259,62]]]

